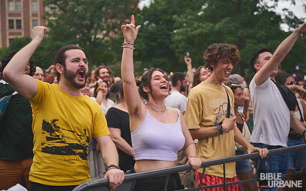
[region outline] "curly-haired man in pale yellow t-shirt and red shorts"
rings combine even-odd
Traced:
[[[258,150],[265,156],[267,150],[252,146],[236,126],[234,116],[234,94],[223,85],[239,61],[240,55],[236,46],[213,44],[204,53],[206,67],[210,77],[191,89],[185,119],[194,139],[199,139],[196,147],[202,161],[235,156],[235,142],[248,148],[248,153]],[[237,181],[235,162],[225,164],[226,182]],[[209,166],[195,172],[198,186],[223,183],[223,164]],[[218,187],[213,190],[219,190]],[[238,185],[226,186],[226,190],[238,190]]]

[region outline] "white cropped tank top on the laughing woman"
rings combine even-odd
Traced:
[[[131,133],[135,160],[167,160],[178,159],[178,151],[185,144],[178,110],[178,121],[164,124],[154,119],[146,109],[146,116],[141,125]]]

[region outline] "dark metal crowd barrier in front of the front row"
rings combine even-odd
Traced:
[[[300,150],[300,149],[306,149],[306,144],[269,150],[268,155],[278,154],[278,153],[282,153],[282,152],[289,152],[289,151],[294,151],[294,150]],[[243,155],[238,155],[238,156],[232,156],[232,157],[227,157],[227,158],[208,160],[208,161],[203,161],[201,167],[204,167],[204,170],[205,170],[205,168],[207,166],[223,164],[223,169],[225,169],[225,163],[236,162],[236,161],[241,161],[241,160],[251,159],[251,158],[256,158],[256,157],[258,157],[259,160],[260,160],[260,156],[259,156],[258,152],[251,153],[251,154],[243,154]],[[259,163],[259,161],[258,161],[258,163]],[[296,168],[296,166],[295,166],[295,168]],[[180,172],[180,171],[185,171],[185,170],[191,170],[190,164],[184,164],[184,165],[179,165],[179,166],[174,166],[174,167],[168,167],[168,168],[161,168],[161,169],[149,170],[149,171],[144,171],[144,172],[135,172],[135,173],[125,174],[123,183],[116,188],[116,191],[132,191],[134,183],[137,179],[154,177],[154,176],[161,176],[161,175],[168,175],[167,176],[167,180],[168,180],[168,177],[169,177],[170,173]],[[284,174],[282,176],[293,175],[293,178],[294,178],[295,175],[302,174],[302,173],[306,173],[306,172],[303,172],[303,171],[302,172],[296,172],[294,170],[293,173]],[[185,190],[185,191],[190,190],[191,191],[191,190],[200,190],[200,189],[207,189],[207,188],[220,187],[220,186],[224,187],[224,190],[226,190],[226,186],[228,186],[228,185],[246,183],[246,182],[253,182],[253,188],[252,188],[252,191],[253,191],[254,186],[256,184],[256,181],[259,180],[259,178],[256,178],[256,175],[257,175],[257,171],[256,171],[253,179],[240,180],[240,181],[229,182],[229,183],[225,183],[225,181],[224,181],[223,184],[216,184],[216,185],[209,185],[209,186],[202,186],[202,187],[194,187],[194,188],[181,189],[181,190]],[[225,176],[225,170],[224,170],[224,176]],[[202,176],[202,179],[203,179],[203,176]],[[73,191],[83,191],[83,190],[86,190],[86,191],[96,191],[96,190],[108,191],[109,190],[108,184],[109,184],[108,178],[100,178],[100,179],[90,180],[90,181],[86,181],[84,183],[81,183],[80,185],[76,186],[73,189]],[[167,184],[165,186],[165,190],[166,190],[166,188],[167,188]]]

